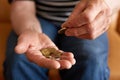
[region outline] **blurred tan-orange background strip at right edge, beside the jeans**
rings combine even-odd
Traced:
[[[119,14],[120,15],[120,14]],[[109,43],[110,43],[110,49],[109,49],[109,66],[111,70],[111,80],[120,80],[120,34],[117,32],[116,29],[118,27],[120,28],[120,25],[118,25],[117,19],[118,15],[114,15],[112,18],[112,23],[110,26],[110,29],[108,30],[108,36],[109,36]]]

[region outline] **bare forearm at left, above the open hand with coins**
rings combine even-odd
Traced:
[[[35,14],[35,4],[32,1],[15,1],[11,4],[11,22],[18,35],[26,30],[41,32]]]

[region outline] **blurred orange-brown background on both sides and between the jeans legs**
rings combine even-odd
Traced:
[[[6,40],[11,31],[10,4],[7,0],[0,0],[0,80],[3,78],[3,62],[5,59]],[[109,38],[109,67],[110,80],[120,80],[120,12],[112,17],[108,30]],[[50,70],[50,80],[59,80],[57,70]]]

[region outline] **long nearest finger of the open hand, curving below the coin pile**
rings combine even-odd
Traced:
[[[40,51],[28,50],[26,56],[31,62],[34,62],[41,67],[45,67],[48,69],[60,68],[60,64],[58,61],[44,57],[42,53],[40,53]]]

